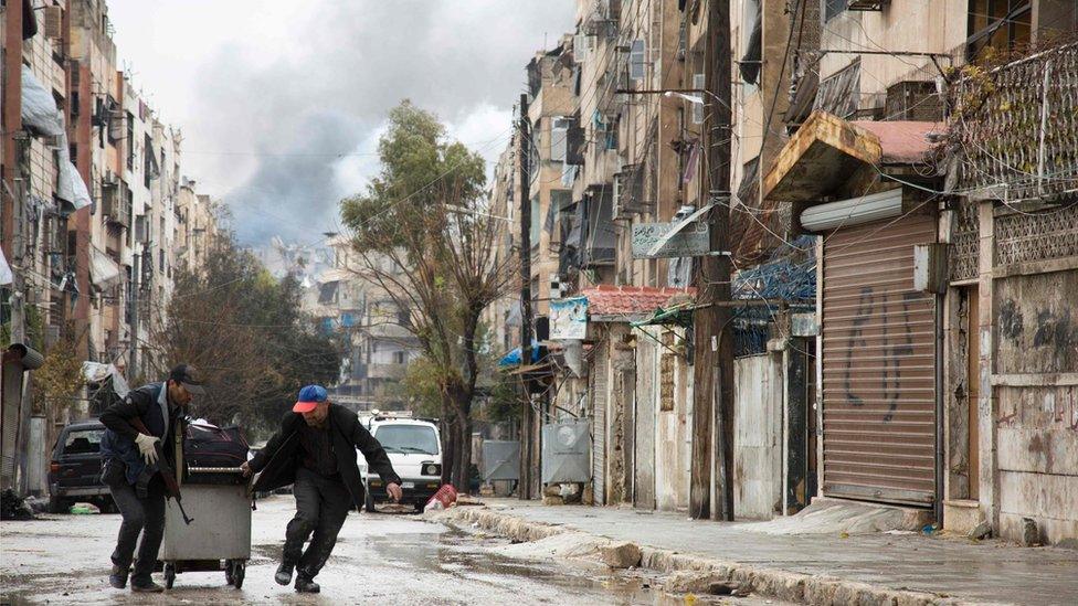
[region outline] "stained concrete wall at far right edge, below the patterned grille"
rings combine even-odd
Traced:
[[[1000,532],[1078,538],[1078,269],[994,280]],[[1074,318],[1074,320],[1072,320]]]

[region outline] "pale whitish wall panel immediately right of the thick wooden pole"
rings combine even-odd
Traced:
[[[733,514],[770,520],[782,501],[782,369],[769,355],[733,363]]]

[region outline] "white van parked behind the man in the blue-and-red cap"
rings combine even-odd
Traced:
[[[437,425],[411,418],[409,413],[378,413],[363,419],[363,425],[381,443],[401,477],[402,503],[416,510],[437,492],[442,479],[442,440]],[[367,459],[358,453],[359,471],[367,488],[367,511],[374,511],[376,502],[388,502],[385,486],[378,474],[367,468]]]

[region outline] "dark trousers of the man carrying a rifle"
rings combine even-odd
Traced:
[[[154,564],[157,563],[157,552],[165,536],[165,482],[159,477],[154,478],[146,497],[139,497],[135,487],[126,481],[109,486],[108,489],[124,517],[119,525],[119,536],[116,538],[116,550],[113,551],[113,564],[123,570],[131,565],[135,541],[141,533],[142,542],[138,547],[138,561],[135,563],[131,583],[149,583]]]

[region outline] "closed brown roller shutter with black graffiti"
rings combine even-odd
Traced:
[[[829,496],[936,499],[936,298],[913,290],[934,217],[839,230],[824,242],[823,436]]]

